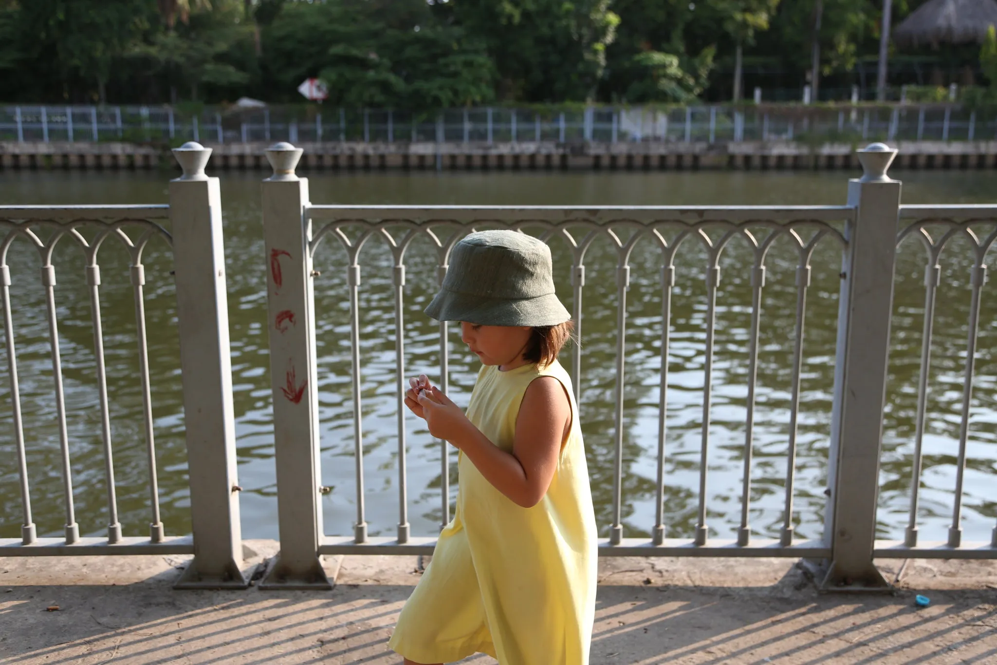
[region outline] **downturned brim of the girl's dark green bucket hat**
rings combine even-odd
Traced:
[[[484,326],[556,326],[571,318],[553,293],[509,300],[483,298],[441,288],[425,310],[437,321],[467,321]]]

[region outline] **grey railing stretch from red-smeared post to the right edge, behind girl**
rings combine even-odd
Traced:
[[[585,254],[596,238],[610,242],[616,252],[616,368],[614,485],[612,522],[609,537],[599,543],[599,553],[614,555],[701,555],[701,556],[792,556],[824,559],[824,585],[876,587],[885,585],[872,564],[873,553],[884,556],[964,556],[997,557],[997,542],[962,543],[957,537],[938,545],[915,547],[876,541],[876,497],[878,460],[886,369],[889,324],[893,291],[896,245],[911,231],[900,230],[898,219],[914,216],[943,217],[957,229],[969,232],[957,219],[997,222],[994,206],[933,206],[918,208],[899,205],[899,182],[885,175],[896,155],[882,145],[859,151],[865,171],[861,179],[849,182],[845,205],[828,206],[399,206],[399,205],[315,205],[309,202],[305,178],[294,174],[301,149],[277,145],[267,151],[274,175],[264,181],[263,225],[266,252],[271,257],[268,281],[268,311],[271,330],[270,358],[273,381],[274,432],[276,438],[277,491],[280,509],[281,554],[264,584],[272,586],[327,586],[318,565],[318,554],[432,553],[435,538],[410,535],[406,495],[406,416],[402,404],[404,376],[405,255],[416,238],[429,238],[437,252],[438,279],[442,282],[448,255],[464,234],[483,227],[511,228],[535,233],[544,241],[566,241],[572,257],[571,283],[573,318],[579,337],[584,339],[581,302],[585,285]],[[353,237],[347,228],[357,229]],[[917,226],[919,228],[919,226]],[[714,231],[712,234],[708,231]],[[955,231],[953,231],[955,232]],[[930,236],[922,234],[930,239]],[[940,251],[945,238],[934,245]],[[787,451],[787,477],[783,525],[778,539],[755,538],[749,524],[753,446],[754,394],[758,363],[758,331],[761,300],[766,275],[766,256],[772,243],[790,237],[797,248],[796,325],[793,345],[793,378]],[[973,236],[975,237],[975,236]],[[977,265],[994,235],[978,243]],[[751,265],[752,323],[749,342],[748,406],[744,423],[744,481],[741,523],[736,540],[709,537],[706,524],[706,498],[710,458],[711,368],[714,355],[714,326],[717,286],[720,281],[720,255],[733,242],[747,243],[753,255]],[[350,349],[352,362],[352,429],[356,481],[356,520],[351,535],[326,535],[321,519],[319,469],[318,397],[316,385],[314,280],[317,251],[338,244],[347,258],[346,283],[350,303]],[[372,242],[384,242],[394,260],[395,351],[398,380],[398,492],[399,518],[396,537],[369,536],[365,514],[364,433],[361,409],[360,306],[361,251]],[[814,540],[799,540],[794,534],[794,484],[796,474],[797,420],[800,413],[801,366],[811,258],[819,244],[840,246],[841,272],[834,364],[829,497],[824,534]],[[629,285],[628,260],[637,243],[652,243],[661,256],[662,329],[661,377],[658,416],[656,518],[649,524],[650,539],[624,537],[621,523],[623,455],[623,389],[625,386],[626,297]],[[665,413],[667,408],[670,302],[675,284],[674,259],[680,247],[699,243],[706,252],[706,315],[704,392],[699,470],[698,517],[691,539],[666,538],[663,522],[663,469],[665,464]],[[937,256],[937,251],[932,254]],[[974,272],[979,283],[982,268]],[[978,310],[978,286],[974,287],[974,311]],[[294,317],[288,329],[281,322]],[[975,329],[976,319],[971,321]],[[441,388],[448,390],[448,324],[440,323]],[[274,332],[278,331],[278,332]],[[926,342],[929,344],[929,341]],[[972,358],[973,348],[969,355]],[[926,361],[925,361],[926,362]],[[965,400],[968,404],[972,361],[967,364]],[[580,352],[572,355],[572,380],[580,397]],[[925,375],[926,376],[926,375]],[[926,379],[922,379],[926,381]],[[967,407],[968,409],[968,407]],[[923,421],[923,410],[920,413]],[[582,414],[584,419],[584,414]],[[964,466],[965,424],[960,461]],[[450,519],[449,461],[447,444],[441,446],[441,507],[444,524]],[[915,470],[919,474],[919,465]],[[302,479],[311,479],[309,485]],[[959,487],[961,493],[961,472]],[[916,501],[916,495],[915,495]],[[959,499],[953,528],[959,521]],[[997,533],[997,531],[995,531]],[[997,537],[997,536],[995,536]]]

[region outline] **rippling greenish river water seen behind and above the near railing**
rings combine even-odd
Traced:
[[[993,202],[995,177],[985,171],[893,173],[904,181],[908,203]],[[5,172],[3,203],[166,202],[168,173]],[[242,531],[276,537],[276,485],[266,336],[264,250],[258,173],[221,178],[227,262],[232,381],[238,447]],[[462,204],[834,204],[845,198],[841,172],[627,172],[627,173],[319,173],[311,177],[316,203]],[[557,288],[570,308],[569,259],[555,245]],[[66,383],[74,499],[81,533],[100,535],[107,525],[107,486],[96,387],[94,340],[83,254],[63,242],[56,250],[56,288]],[[390,254],[384,243],[363,251],[361,356],[364,468],[371,534],[392,535],[398,521],[394,304]],[[956,241],[943,257],[934,324],[931,390],[924,437],[919,511],[921,538],[944,539],[951,520],[958,452],[969,311],[968,245]],[[150,498],[138,375],[135,314],[127,253],[110,241],[101,250],[104,341],[111,394],[116,489],[126,535],[148,533]],[[61,535],[65,520],[59,433],[38,255],[17,241],[8,262],[16,326],[17,360],[28,448],[34,519],[40,535]],[[880,537],[902,538],[910,497],[917,373],[923,312],[924,251],[905,242],[898,258],[892,349],[879,497]],[[407,374],[436,380],[438,327],[422,309],[435,289],[435,256],[428,243],[407,255]],[[812,259],[808,296],[796,492],[793,520],[799,537],[823,529],[831,384],[840,249],[826,238]],[[160,500],[166,531],[189,531],[183,417],[175,306],[163,243],[146,254],[147,318]],[[329,239],[316,267],[317,337],[325,532],[352,533],[355,481],[349,304],[344,254]],[[624,534],[646,535],[654,523],[661,338],[660,256],[649,243],[631,260],[627,302],[624,409]],[[692,536],[699,494],[703,400],[705,254],[687,244],[676,261],[672,306],[665,522],[671,537]],[[711,534],[735,537],[741,513],[745,446],[748,336],[751,322],[750,253],[734,243],[725,251],[718,292],[713,408],[710,430],[708,518]],[[792,336],[797,253],[777,241],[767,260],[755,415],[752,510],[759,535],[778,537],[790,432]],[[615,254],[596,243],[586,259],[581,378],[581,419],[600,531],[611,521],[616,349]],[[967,448],[962,526],[965,540],[989,540],[997,518],[997,325],[995,299],[984,289]],[[454,328],[454,327],[452,327]],[[478,370],[455,331],[451,340],[451,394],[467,404]],[[5,352],[4,352],[5,353]],[[568,351],[562,363],[570,367]],[[21,506],[11,434],[6,358],[0,368],[0,537],[20,535]],[[409,515],[415,535],[437,532],[441,520],[440,447],[408,420]],[[452,463],[456,463],[452,451]],[[456,493],[452,469],[452,498]]]

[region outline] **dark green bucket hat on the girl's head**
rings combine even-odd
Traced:
[[[440,292],[426,308],[438,321],[555,326],[571,318],[554,294],[550,248],[516,231],[479,231],[458,242]]]

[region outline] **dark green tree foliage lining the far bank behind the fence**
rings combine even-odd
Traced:
[[[894,25],[924,1],[894,0]],[[320,77],[346,107],[727,100],[736,63],[746,88],[803,86],[815,3],[0,0],[0,99],[302,102]],[[823,3],[822,88],[847,88],[876,57],[882,2]],[[976,47],[931,53],[994,80]]]

